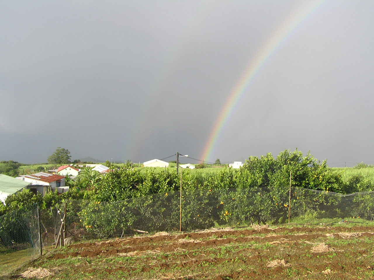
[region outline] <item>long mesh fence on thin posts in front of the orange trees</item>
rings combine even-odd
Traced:
[[[289,217],[291,222],[353,217],[373,220],[374,192],[342,195],[300,188],[290,192],[287,187],[186,189],[182,197],[177,191],[116,202],[72,200],[40,211],[40,231],[36,207],[0,217],[0,249],[2,255],[27,252],[24,255],[30,260],[39,255],[40,243],[47,247],[157,231],[283,224]],[[65,238],[59,239],[62,221]]]

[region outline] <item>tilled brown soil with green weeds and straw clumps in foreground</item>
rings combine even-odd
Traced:
[[[374,227],[278,227],[76,243],[45,279],[374,279]],[[70,265],[67,265],[70,264]]]

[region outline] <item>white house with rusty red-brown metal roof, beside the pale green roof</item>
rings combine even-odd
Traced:
[[[65,187],[65,176],[39,172],[31,175],[18,176],[17,179],[31,183],[32,186],[47,186],[49,190],[57,190],[58,193],[68,192],[69,187]],[[44,192],[44,190],[43,190]],[[43,193],[44,195],[45,193]]]

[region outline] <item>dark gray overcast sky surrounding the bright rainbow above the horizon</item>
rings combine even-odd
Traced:
[[[0,160],[202,159],[243,73],[308,4],[205,160],[297,147],[374,164],[370,0],[1,1]]]

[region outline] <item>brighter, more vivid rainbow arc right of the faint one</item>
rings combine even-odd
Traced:
[[[270,57],[282,46],[283,42],[290,37],[293,31],[297,29],[309,16],[318,9],[325,0],[304,1],[301,6],[289,16],[283,24],[277,28],[258,49],[253,59],[249,62],[237,84],[229,94],[226,103],[215,122],[209,135],[208,141],[203,149],[201,159],[209,161],[212,151],[214,150],[217,140],[228,122],[235,106],[238,104],[240,97],[248,93],[248,89],[260,70],[270,59]]]

